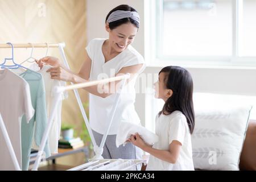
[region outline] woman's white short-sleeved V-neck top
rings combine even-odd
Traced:
[[[105,63],[102,53],[102,45],[106,39],[93,39],[86,47],[88,56],[92,60],[89,80],[101,80],[103,78],[114,77],[122,68],[132,65],[143,64],[138,74],[144,71],[145,64],[142,55],[129,45],[124,51],[113,59]],[[134,108],[135,102],[135,81],[138,75],[129,81],[123,88],[117,110],[115,111],[109,135],[117,134],[119,123],[122,121],[140,125],[141,121]],[[89,118],[92,130],[100,134],[105,134],[108,129],[112,108],[114,106],[117,93],[111,94],[106,98],[89,94]]]

